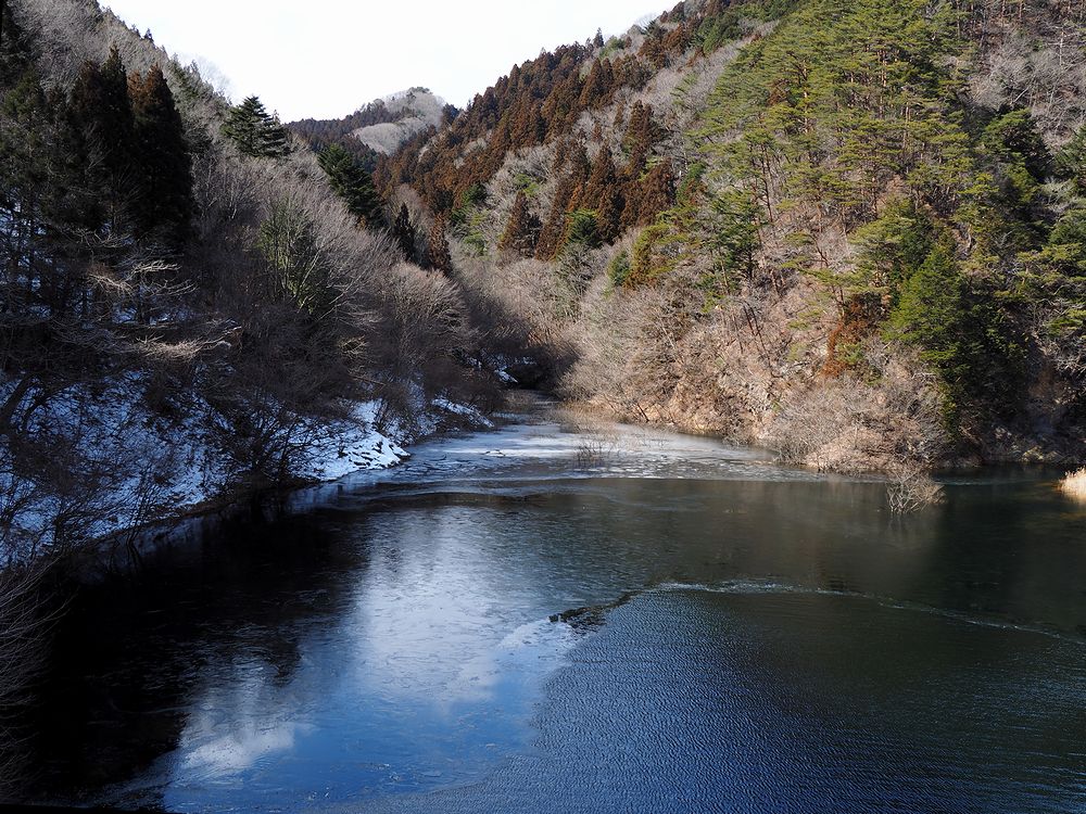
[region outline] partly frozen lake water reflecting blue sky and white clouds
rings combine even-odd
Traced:
[[[1086,506],[544,410],[68,614],[27,794],[168,811],[1086,811]]]

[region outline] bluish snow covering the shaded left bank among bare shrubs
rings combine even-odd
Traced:
[[[13,392],[4,383],[0,398]],[[28,392],[25,403],[36,395]],[[147,382],[132,376],[102,391],[78,386],[49,398],[28,427],[46,450],[40,460],[16,459],[0,436],[0,536],[8,538],[0,564],[62,540],[109,538],[180,518],[245,483],[226,448],[229,425],[211,405],[189,395],[152,410],[146,395]],[[292,475],[319,483],[388,469],[411,457],[406,444],[441,429],[493,427],[475,407],[417,395],[409,431],[384,415],[380,400],[350,403],[341,419],[303,421]]]

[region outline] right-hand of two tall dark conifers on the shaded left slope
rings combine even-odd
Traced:
[[[157,65],[146,78],[132,76],[129,90],[143,188],[137,218],[146,234],[180,247],[192,218],[192,162],[185,126]]]

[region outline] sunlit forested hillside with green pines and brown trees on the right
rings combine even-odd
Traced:
[[[822,468],[1081,458],[1084,16],[690,0],[375,177],[567,397]]]

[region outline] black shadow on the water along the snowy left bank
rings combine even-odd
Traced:
[[[138,574],[83,585],[52,641],[27,745],[31,797],[87,804],[172,750],[203,669],[267,665],[283,685],[299,639],[333,618],[365,550],[313,517],[227,522],[222,538],[151,555]]]

